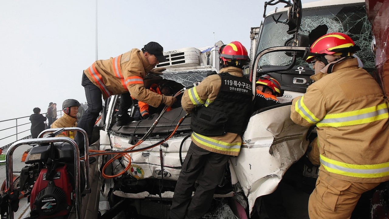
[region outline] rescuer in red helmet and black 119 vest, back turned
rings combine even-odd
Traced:
[[[199,219],[208,212],[230,155],[237,156],[252,109],[252,85],[243,77],[249,62],[238,41],[219,49],[219,74],[184,92],[181,105],[192,113],[192,143],[186,154],[170,207],[171,219]],[[198,180],[195,195],[193,185]]]

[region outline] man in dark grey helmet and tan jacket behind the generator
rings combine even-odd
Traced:
[[[63,116],[53,122],[51,128],[70,128],[77,127],[77,113],[80,103],[75,99],[67,99],[63,101],[62,110]],[[56,137],[69,137],[74,139],[74,131],[65,131],[58,134]]]

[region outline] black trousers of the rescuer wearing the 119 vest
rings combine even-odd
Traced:
[[[208,212],[229,158],[230,155],[210,152],[191,143],[174,190],[171,219],[200,219]],[[191,197],[196,180],[199,185]]]

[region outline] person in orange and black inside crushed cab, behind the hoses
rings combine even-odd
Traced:
[[[168,87],[167,85],[157,85],[152,84],[150,87],[150,90],[157,94],[163,94],[165,96],[171,96],[173,94],[173,90],[171,87]],[[152,107],[149,106],[149,104],[139,101],[138,102],[140,116],[142,116],[143,119],[149,118],[150,114],[154,113],[161,113],[162,109],[164,108],[163,105],[159,105],[158,107]],[[166,112],[172,110],[172,107],[168,107],[166,109]]]

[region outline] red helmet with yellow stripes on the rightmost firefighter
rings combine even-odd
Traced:
[[[354,41],[346,34],[339,32],[330,33],[320,37],[312,44],[310,52],[305,57],[305,61],[312,62],[313,58],[318,55],[334,55],[335,53],[339,53],[340,55],[345,52],[354,53],[359,49],[359,46],[356,46]]]

